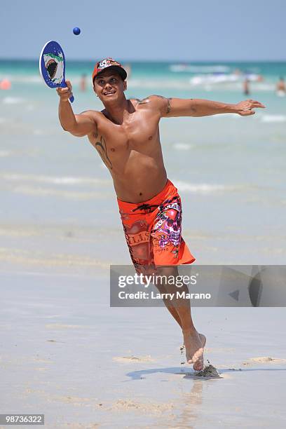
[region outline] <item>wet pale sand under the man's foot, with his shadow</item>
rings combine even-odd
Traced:
[[[165,308],[110,308],[104,273],[2,268],[1,298],[2,413],[43,413],[46,428],[285,427],[283,308],[194,308],[210,378],[181,365]]]

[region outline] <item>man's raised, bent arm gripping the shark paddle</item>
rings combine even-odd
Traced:
[[[93,131],[96,131],[97,125],[95,118],[90,111],[84,111],[80,115],[75,115],[69,97],[71,97],[71,83],[66,81],[67,88],[57,88],[57,94],[60,96],[59,118],[60,124],[65,131],[69,131],[76,137],[83,137]]]

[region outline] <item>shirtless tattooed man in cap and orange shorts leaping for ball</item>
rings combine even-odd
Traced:
[[[111,58],[97,62],[93,90],[105,109],[79,115],[71,109],[71,83],[67,81],[67,88],[57,88],[60,123],[72,135],[87,135],[109,169],[137,273],[147,273],[151,267],[174,275],[179,264],[191,264],[195,258],[181,235],[181,200],[165,171],[160,119],[226,113],[249,116],[255,113],[254,108],[264,105],[254,100],[226,104],[159,95],[126,100],[125,79],[126,71],[118,62]],[[161,292],[170,292],[168,285],[156,286]],[[170,301],[165,305],[182,328],[187,362],[193,363],[195,370],[203,369],[205,336],[193,325],[189,302],[177,308]]]

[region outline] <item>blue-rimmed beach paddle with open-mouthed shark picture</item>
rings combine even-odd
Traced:
[[[48,41],[39,59],[40,74],[50,88],[67,88],[65,82],[65,59],[64,51],[56,41]],[[71,95],[69,101],[72,103],[74,97]]]

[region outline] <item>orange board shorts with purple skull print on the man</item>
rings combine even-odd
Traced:
[[[182,238],[182,204],[168,180],[163,191],[144,203],[118,200],[132,263],[137,273],[156,266],[191,264],[196,259]]]

